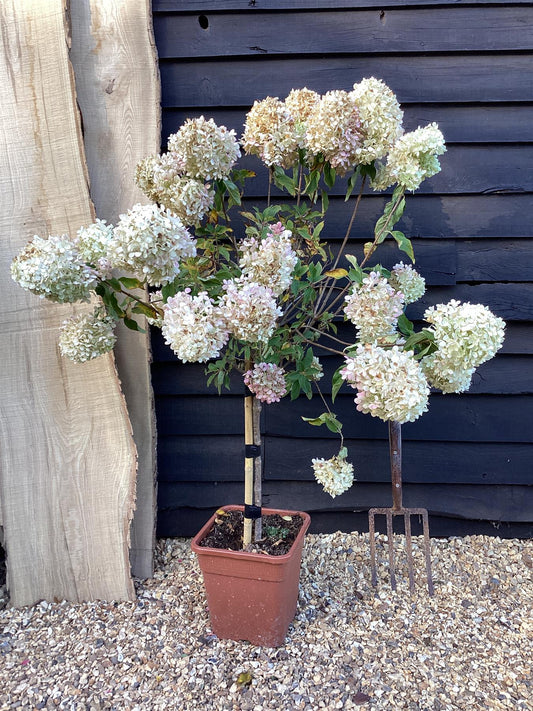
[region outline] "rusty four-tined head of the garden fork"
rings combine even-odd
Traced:
[[[391,588],[396,590],[396,573],[394,563],[394,542],[393,542],[393,516],[403,516],[405,525],[405,541],[407,550],[407,568],[409,571],[409,589],[411,593],[415,589],[415,576],[413,568],[413,541],[411,538],[411,516],[422,517],[422,528],[424,534],[424,549],[426,557],[426,576],[428,583],[428,592],[432,597],[434,594],[433,579],[431,577],[431,556],[429,542],[429,523],[427,509],[420,508],[405,508],[403,506],[395,506],[392,508],[372,508],[368,512],[368,530],[370,533],[370,566],[372,573],[372,585],[375,587],[378,582],[376,572],[376,537],[375,537],[375,517],[377,514],[383,514],[387,519],[387,541],[389,547],[389,570]]]

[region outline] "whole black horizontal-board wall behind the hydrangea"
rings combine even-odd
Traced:
[[[533,3],[153,0],[153,12],[163,145],[188,117],[240,136],[255,99],[350,90],[369,76],[395,91],[407,129],[439,123],[442,172],[408,199],[403,220],[431,285],[411,316],[458,298],[486,304],[508,328],[467,394],[432,395],[429,413],[403,427],[404,499],[429,509],[434,535],[533,535]],[[265,185],[257,181],[253,203]],[[353,253],[383,198],[364,203]],[[349,209],[332,200],[333,244]],[[388,259],[398,256],[391,249]],[[242,387],[219,397],[203,366],[179,364],[157,334],[153,349],[158,532],[192,535],[215,507],[242,500]],[[336,453],[338,441],[299,417],[321,412],[320,402],[264,412],[265,504],[310,512],[314,531],[363,530],[369,506],[390,505],[386,425],[357,413],[353,395],[341,391],[336,410],[358,481],[336,499],[314,482],[310,460]]]

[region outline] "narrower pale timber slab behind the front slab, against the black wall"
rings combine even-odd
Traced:
[[[116,224],[148,200],[135,166],[159,152],[160,83],[147,0],[71,0],[71,60],[83,119],[91,198],[96,215]],[[139,319],[140,320],[140,319]],[[141,326],[146,326],[142,321]],[[138,452],[137,502],[131,529],[132,572],[153,573],[155,415],[146,334],[117,327],[115,347]]]

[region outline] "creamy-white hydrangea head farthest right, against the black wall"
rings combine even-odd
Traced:
[[[424,313],[438,350],[422,360],[431,385],[445,393],[463,392],[474,370],[501,348],[505,323],[482,304],[431,306]]]

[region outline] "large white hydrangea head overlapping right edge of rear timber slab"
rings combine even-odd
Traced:
[[[121,215],[109,248],[113,268],[154,286],[172,281],[180,260],[195,255],[196,242],[182,221],[157,205],[134,205]]]

